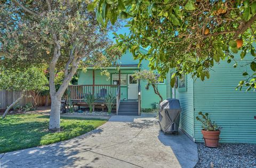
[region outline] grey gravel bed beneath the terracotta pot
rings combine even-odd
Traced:
[[[256,145],[220,144],[208,148],[197,144],[198,163],[195,167],[256,167]]]

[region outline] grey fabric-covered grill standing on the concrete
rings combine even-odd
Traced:
[[[178,132],[180,123],[180,102],[178,99],[165,99],[159,105],[159,125],[166,132]]]

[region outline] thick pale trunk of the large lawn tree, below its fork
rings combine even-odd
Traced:
[[[49,129],[51,131],[60,131],[60,104],[61,99],[55,96],[51,97],[51,112],[50,112],[50,123]]]

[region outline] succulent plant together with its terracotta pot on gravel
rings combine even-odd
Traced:
[[[208,117],[208,113],[203,114],[202,112],[198,113],[202,116],[196,117],[196,120],[202,122],[202,134],[205,142],[205,146],[207,147],[218,147],[219,146],[219,136],[220,136],[220,127]]]

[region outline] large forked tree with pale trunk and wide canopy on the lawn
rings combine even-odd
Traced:
[[[1,1],[0,63],[26,67],[49,65],[51,112],[49,129],[60,130],[61,97],[78,65],[104,66],[113,60],[107,32],[100,28],[95,13],[87,11],[89,1]],[[109,52],[111,53],[111,52]],[[117,55],[115,55],[117,56]],[[115,57],[114,56],[114,57]],[[109,61],[110,60],[110,61]],[[63,71],[59,89],[55,73]]]

